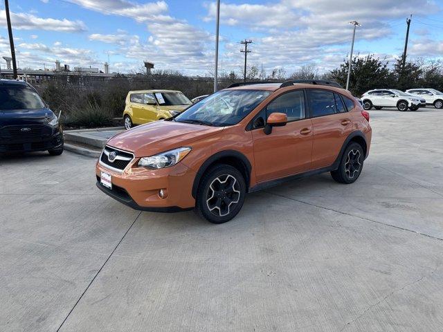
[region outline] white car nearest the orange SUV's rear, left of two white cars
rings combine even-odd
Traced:
[[[383,107],[397,107],[399,111],[417,111],[426,106],[426,100],[395,89],[370,90],[361,96],[363,109],[382,109]]]

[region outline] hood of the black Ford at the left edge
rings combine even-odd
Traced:
[[[53,116],[51,109],[0,109],[0,126],[46,123]]]

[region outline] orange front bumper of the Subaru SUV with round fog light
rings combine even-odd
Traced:
[[[128,165],[123,173],[115,172],[97,163],[97,187],[108,196],[136,210],[152,212],[178,212],[195,207],[192,185],[195,172],[179,163],[163,169],[147,169]],[[100,183],[102,172],[111,175],[112,190]],[[159,191],[167,194],[161,198]]]

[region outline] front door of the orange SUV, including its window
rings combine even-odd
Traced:
[[[271,113],[285,113],[284,127],[273,127],[266,135],[264,122]],[[311,167],[312,122],[307,119],[305,92],[283,93],[253,120],[255,176],[257,182],[305,172]]]

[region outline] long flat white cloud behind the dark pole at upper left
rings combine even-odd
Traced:
[[[79,33],[87,30],[82,21],[36,17],[25,12],[10,12],[12,26],[17,30],[51,30],[64,33]],[[6,12],[0,10],[0,26],[6,27]]]

